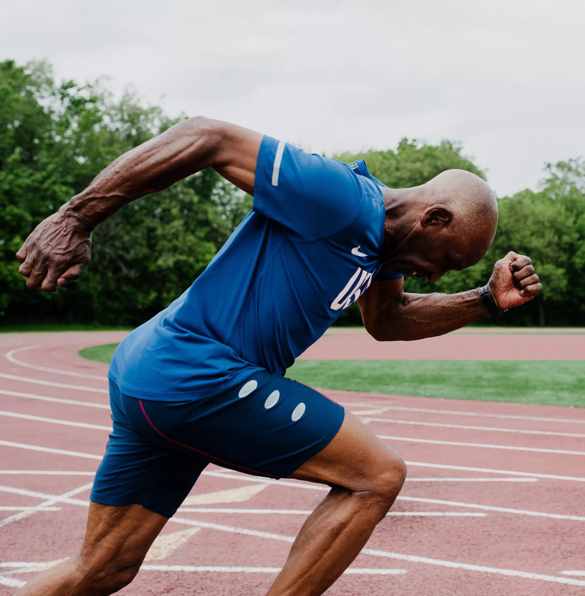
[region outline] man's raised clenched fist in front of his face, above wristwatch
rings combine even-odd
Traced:
[[[500,311],[520,306],[542,290],[530,257],[514,251],[497,261],[487,287]]]

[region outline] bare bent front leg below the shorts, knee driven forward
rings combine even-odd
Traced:
[[[303,524],[266,596],[319,596],[356,558],[393,504],[406,465],[347,412],[331,443],[291,477],[332,489]]]

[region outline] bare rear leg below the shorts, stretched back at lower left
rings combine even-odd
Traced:
[[[167,518],[142,505],[89,505],[80,552],[40,573],[18,596],[105,596],[129,584]]]

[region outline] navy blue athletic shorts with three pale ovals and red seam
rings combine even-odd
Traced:
[[[337,434],[344,409],[321,393],[267,371],[225,393],[153,401],[110,380],[113,432],[91,500],[144,505],[172,517],[207,464],[290,476]]]

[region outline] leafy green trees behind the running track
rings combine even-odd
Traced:
[[[14,259],[35,225],[108,163],[178,120],[132,92],[114,98],[100,81],[56,82],[46,63],[0,62],[0,327],[35,321],[137,325],[206,268],[251,208],[251,197],[214,170],[134,201],[98,226],[91,265],[55,294],[27,290]],[[454,167],[485,178],[450,141],[403,139],[394,150],[335,157],[365,159],[376,178],[395,188],[424,184]],[[546,164],[539,189],[499,197],[499,212],[496,237],[480,263],[436,284],[408,278],[406,290],[478,287],[493,263],[515,250],[532,257],[543,293],[497,323],[585,324],[585,161]],[[356,306],[340,319],[359,322]]]

